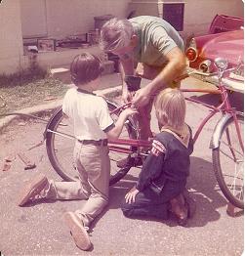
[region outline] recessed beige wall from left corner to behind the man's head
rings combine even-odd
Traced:
[[[20,0],[23,37],[63,38],[94,29],[94,17],[127,16],[130,0]]]

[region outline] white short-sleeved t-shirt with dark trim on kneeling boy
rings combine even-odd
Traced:
[[[104,132],[114,127],[106,102],[102,97],[78,90],[69,89],[62,104],[63,113],[73,120],[75,137],[78,140],[106,139]]]

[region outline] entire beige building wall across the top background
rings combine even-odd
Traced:
[[[0,6],[0,74],[13,73],[28,65],[28,57],[23,56],[22,35],[59,38],[85,33],[94,29],[94,17],[106,14],[127,17],[129,3],[141,7],[143,15],[156,12],[156,16],[160,16],[163,2],[185,3],[184,31],[181,32],[184,37],[206,33],[216,14],[243,16],[241,0],[3,0]],[[149,5],[157,8],[150,9]],[[38,54],[38,62],[51,66],[67,64],[77,51]],[[91,51],[98,52],[98,48]]]

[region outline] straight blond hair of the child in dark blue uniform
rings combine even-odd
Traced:
[[[155,101],[159,124],[182,129],[185,118],[184,95],[179,89],[167,88],[160,92]]]

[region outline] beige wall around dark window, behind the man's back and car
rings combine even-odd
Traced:
[[[164,4],[168,3],[184,3],[184,31],[180,32],[184,38],[207,33],[217,14],[243,17],[244,10],[242,0],[132,0],[129,7],[137,10],[136,16],[162,18]]]

